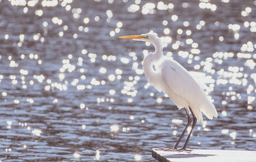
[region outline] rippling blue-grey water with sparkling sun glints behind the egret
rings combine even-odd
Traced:
[[[187,117],[143,74],[153,46],[118,38],[149,30],[218,111],[189,148],[256,150],[255,20],[253,0],[0,0],[0,160],[155,161],[173,146]]]

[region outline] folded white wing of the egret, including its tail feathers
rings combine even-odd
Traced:
[[[199,121],[202,121],[201,111],[209,119],[217,117],[217,111],[213,103],[208,101],[204,90],[200,87],[200,84],[198,84],[189,72],[177,63],[177,61],[164,61],[164,63],[162,63],[161,73],[164,83],[174,93],[172,95],[175,97],[182,97],[187,101],[188,106],[194,110]]]

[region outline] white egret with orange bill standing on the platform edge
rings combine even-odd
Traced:
[[[207,98],[202,86],[200,86],[181,64],[163,55],[163,45],[158,34],[150,31],[147,34],[120,36],[119,38],[145,41],[155,47],[156,50],[146,55],[143,59],[143,72],[147,81],[158,91],[163,91],[168,94],[170,100],[175,103],[179,109],[184,108],[188,118],[187,125],[175,146],[166,149],[171,151],[189,151],[186,148],[191,133],[196,126],[196,121],[203,121],[202,113],[204,113],[208,119],[217,117],[215,106]],[[181,139],[192,121],[189,111],[193,116],[193,124],[184,146],[178,149],[179,142],[181,142]]]

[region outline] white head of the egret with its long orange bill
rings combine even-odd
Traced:
[[[161,42],[160,38],[158,37],[158,34],[156,34],[156,32],[153,32],[152,30],[147,34],[119,36],[119,38],[130,38],[135,41],[149,42],[149,43],[152,43],[153,45],[156,45],[156,43]]]

